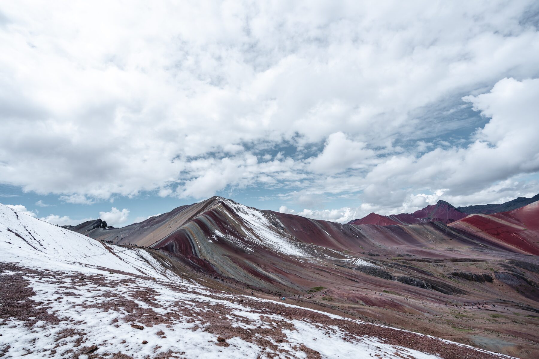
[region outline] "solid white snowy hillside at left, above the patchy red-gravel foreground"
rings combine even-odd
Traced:
[[[106,245],[0,205],[2,262],[29,268],[95,273],[95,268],[148,277],[175,276],[140,248]]]

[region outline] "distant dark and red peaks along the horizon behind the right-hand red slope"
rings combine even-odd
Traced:
[[[379,215],[370,213],[367,216],[348,222],[348,224],[378,224],[379,226],[390,226],[392,224],[413,224],[421,222],[443,222],[445,224],[460,220],[468,214],[494,214],[499,212],[507,212],[516,208],[520,208],[530,203],[539,201],[539,194],[531,197],[519,197],[501,205],[475,205],[466,207],[454,207],[446,201],[438,201],[436,205],[427,206],[423,209],[416,210],[414,213],[400,213],[391,215]]]

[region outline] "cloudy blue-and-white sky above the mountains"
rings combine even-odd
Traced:
[[[348,222],[539,193],[539,3],[0,2],[0,202]]]

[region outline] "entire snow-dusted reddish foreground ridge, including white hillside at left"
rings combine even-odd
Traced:
[[[167,266],[0,205],[0,357],[508,357],[210,290]]]

